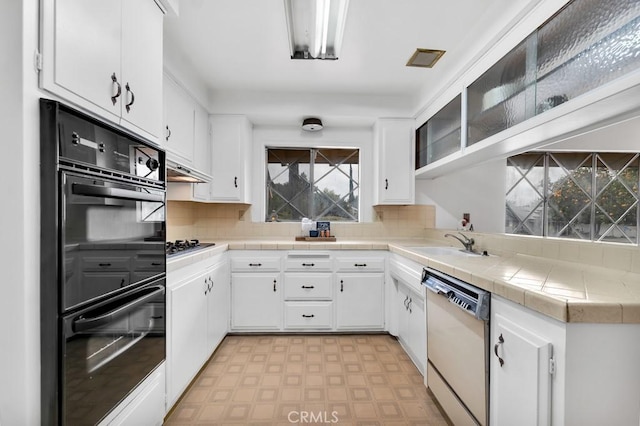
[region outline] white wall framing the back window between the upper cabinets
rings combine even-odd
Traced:
[[[360,149],[360,221],[371,222],[373,200],[373,129],[325,128],[305,132],[300,127],[255,126],[252,145],[251,220],[265,218],[265,147],[338,147]]]

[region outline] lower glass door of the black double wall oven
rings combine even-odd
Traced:
[[[62,424],[98,423],[165,359],[165,280],[63,318]]]

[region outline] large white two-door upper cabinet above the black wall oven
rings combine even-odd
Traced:
[[[42,87],[158,142],[163,13],[156,3],[45,1],[42,15]]]

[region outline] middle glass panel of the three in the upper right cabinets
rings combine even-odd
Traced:
[[[467,145],[534,115],[535,34],[507,53],[467,88]]]

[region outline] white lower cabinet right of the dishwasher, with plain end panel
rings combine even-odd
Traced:
[[[640,324],[561,322],[493,294],[489,349],[491,425],[640,424]]]

